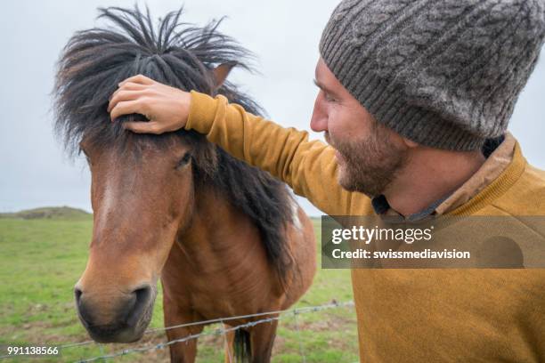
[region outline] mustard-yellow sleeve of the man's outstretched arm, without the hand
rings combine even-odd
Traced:
[[[352,198],[365,198],[338,184],[333,148],[308,141],[306,132],[252,115],[224,96],[213,99],[192,91],[185,129],[206,134],[233,157],[285,181],[326,214],[349,214]]]

